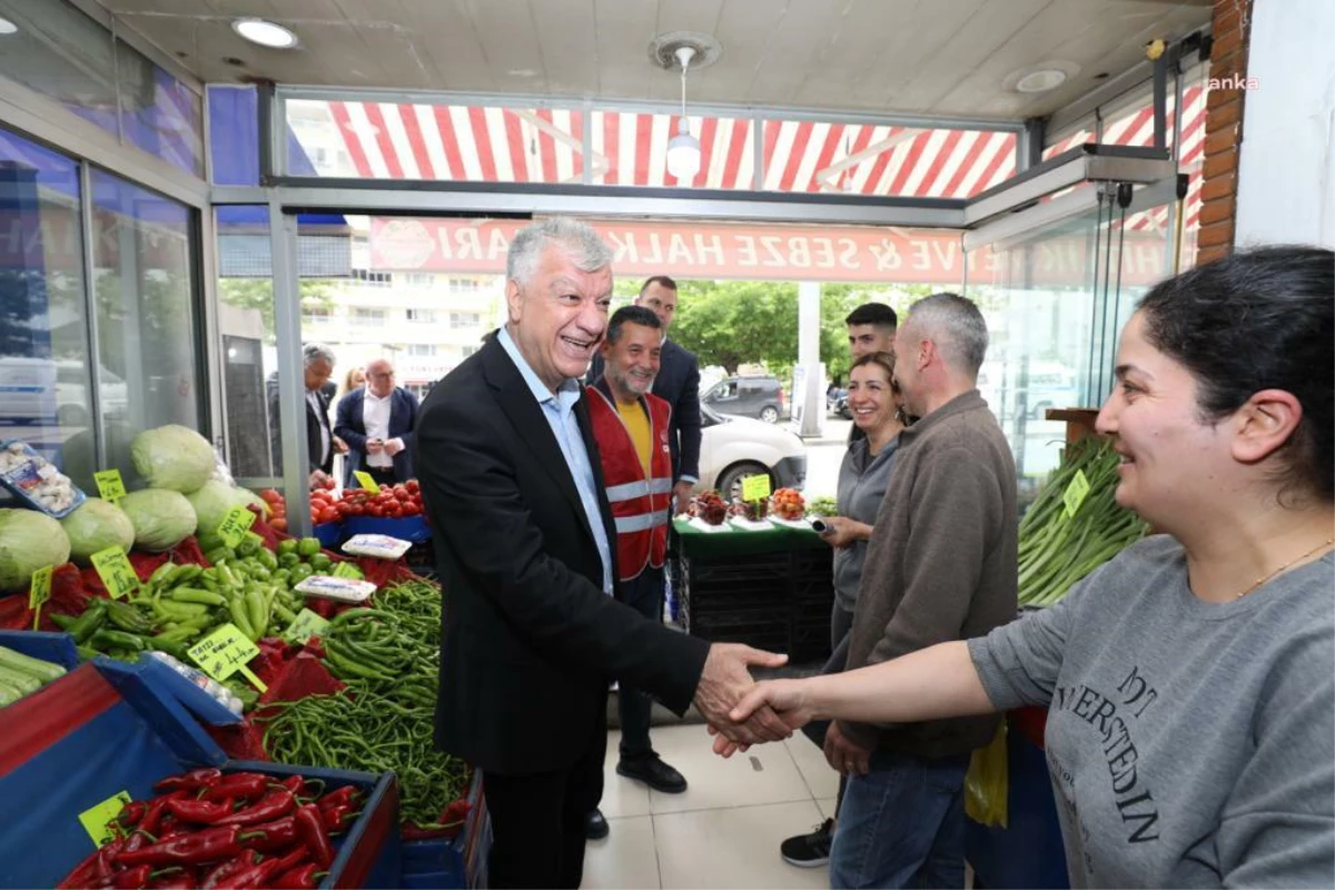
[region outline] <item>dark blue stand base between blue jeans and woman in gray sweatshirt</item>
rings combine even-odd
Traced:
[[[1007,827],[968,819],[964,854],[981,890],[1067,890],[1067,857],[1043,749],[1031,738],[1036,709],[1007,715]],[[1041,721],[1037,721],[1041,722]]]

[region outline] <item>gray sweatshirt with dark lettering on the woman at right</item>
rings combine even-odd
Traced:
[[[1335,558],[1207,603],[1157,535],[969,654],[1049,709],[1073,887],[1335,887]]]

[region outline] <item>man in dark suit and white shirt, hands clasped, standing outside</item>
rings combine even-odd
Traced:
[[[376,359],[366,366],[366,386],[338,403],[334,432],[347,442],[347,472],[343,487],[354,488],[356,470],[371,474],[378,486],[413,478],[407,440],[417,428],[417,396],[394,386],[394,366]]]

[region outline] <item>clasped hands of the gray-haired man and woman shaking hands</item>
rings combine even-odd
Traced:
[[[714,643],[696,687],[696,707],[709,723],[714,753],[732,757],[761,742],[786,739],[814,714],[802,703],[801,683],[756,683],[749,667],[780,667],[776,655],[741,643]]]

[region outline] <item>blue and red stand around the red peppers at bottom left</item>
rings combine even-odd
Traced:
[[[154,785],[195,767],[303,775],[327,790],[355,786],[360,817],[335,841],[326,890],[399,883],[398,790],[390,774],[342,773],[274,763],[230,762],[170,697],[139,679],[108,681],[83,664],[0,710],[0,887],[55,887],[95,851],[79,819],[124,793],[155,795]]]

